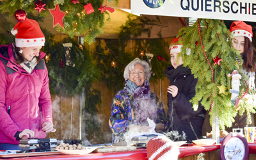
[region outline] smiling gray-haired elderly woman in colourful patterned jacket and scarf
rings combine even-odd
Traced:
[[[113,143],[124,141],[127,131],[149,132],[147,118],[156,123],[156,132],[167,129],[163,104],[150,92],[150,70],[146,61],[131,61],[124,70],[125,87],[116,93],[109,118]]]

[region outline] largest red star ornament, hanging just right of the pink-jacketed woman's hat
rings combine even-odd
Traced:
[[[53,17],[53,28],[55,28],[59,24],[61,28],[64,29],[63,19],[66,13],[60,10],[59,4],[57,4],[54,9],[48,9],[48,10],[50,11]]]

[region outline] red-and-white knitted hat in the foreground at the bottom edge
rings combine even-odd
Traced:
[[[180,152],[177,145],[166,137],[155,137],[148,141],[148,160],[178,159]]]

